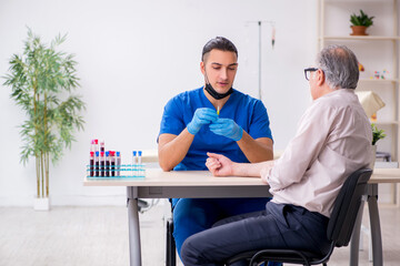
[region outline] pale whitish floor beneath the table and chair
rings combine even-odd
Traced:
[[[164,265],[162,217],[168,208],[159,204],[140,215],[143,266]],[[400,208],[380,206],[380,217],[383,263],[400,265]],[[0,265],[129,265],[127,221],[126,207],[53,207],[50,212],[2,207]],[[368,225],[366,217],[363,224]],[[367,241],[359,265],[372,265]],[[349,265],[348,247],[337,248],[329,265]]]

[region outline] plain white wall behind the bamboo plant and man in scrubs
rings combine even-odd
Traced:
[[[310,96],[303,69],[317,52],[317,3],[310,0],[2,0],[0,1],[0,75],[8,60],[21,53],[27,28],[43,40],[67,33],[61,49],[74,53],[87,102],[84,132],[51,166],[54,205],[124,204],[122,187],[83,187],[91,139],[126,155],[157,149],[166,102],[202,85],[201,49],[216,35],[239,50],[234,88],[258,96],[258,28],[247,21],[276,21],[262,29],[262,91],[271,119],[274,147],[284,149]],[[1,80],[1,84],[3,83]],[[31,205],[34,161],[19,163],[18,125],[24,114],[0,89],[0,205]]]

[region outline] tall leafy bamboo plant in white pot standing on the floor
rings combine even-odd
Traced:
[[[71,91],[79,86],[72,54],[56,51],[66,40],[57,37],[50,45],[28,29],[23,54],[9,61],[4,85],[10,86],[27,119],[21,124],[21,162],[36,158],[36,209],[49,209],[49,165],[59,161],[70,147],[76,130],[83,130],[80,112],[84,103]]]

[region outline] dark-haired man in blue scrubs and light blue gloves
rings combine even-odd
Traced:
[[[241,163],[273,158],[266,106],[232,88],[238,51],[226,38],[206,43],[200,62],[204,85],[172,98],[158,137],[163,171],[207,170],[207,152]],[[189,236],[228,216],[261,211],[270,198],[172,198],[178,254]]]

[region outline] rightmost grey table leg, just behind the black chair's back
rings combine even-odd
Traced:
[[[370,214],[373,266],[383,265],[382,235],[378,209],[378,184],[370,184],[368,208]]]

